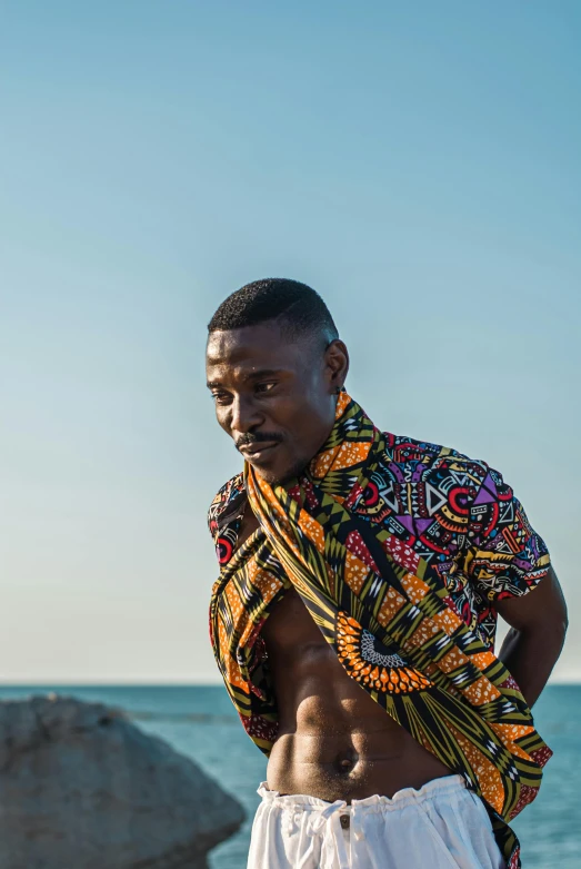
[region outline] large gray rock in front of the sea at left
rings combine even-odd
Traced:
[[[242,820],[120,711],[53,694],[0,702],[0,869],[206,869]]]

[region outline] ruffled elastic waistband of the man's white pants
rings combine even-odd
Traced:
[[[337,800],[335,802],[342,803],[343,812],[349,812],[355,808],[371,808],[372,806],[381,810],[397,811],[412,803],[431,801],[465,790],[467,783],[462,776],[443,776],[439,779],[432,779],[418,790],[415,788],[402,788],[393,797],[380,797],[378,793],[374,793],[372,797],[365,797],[363,800],[351,800],[351,803],[347,803],[343,800]],[[334,806],[334,803],[327,802],[327,800],[320,800],[318,797],[308,797],[304,793],[281,796],[278,791],[269,790],[266,781],[261,782],[258,793],[264,802],[276,803],[280,807],[295,808],[302,806],[304,809],[308,809],[308,807],[325,809],[329,806]]]

